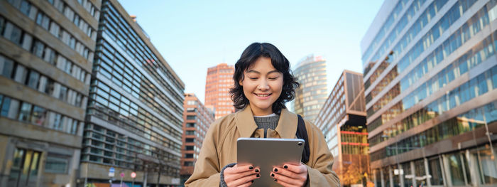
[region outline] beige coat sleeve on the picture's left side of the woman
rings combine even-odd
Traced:
[[[195,169],[192,176],[185,182],[185,186],[219,186],[221,167],[219,167],[217,154],[218,127],[219,124],[214,123],[207,131],[199,157],[195,162]]]

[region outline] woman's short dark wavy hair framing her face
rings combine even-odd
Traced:
[[[288,59],[271,43],[252,43],[244,50],[244,53],[241,53],[240,59],[236,61],[233,75],[234,87],[229,90],[231,100],[234,102],[233,106],[236,109],[244,109],[246,105],[249,105],[249,100],[244,95],[244,87],[239,84],[239,81],[244,80],[244,72],[260,57],[271,58],[271,65],[278,72],[283,73],[283,89],[280,97],[272,106],[273,112],[280,114],[281,109],[286,108],[285,103],[295,98],[295,89],[300,87],[300,84],[293,77]]]

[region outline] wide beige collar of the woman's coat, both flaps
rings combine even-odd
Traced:
[[[241,137],[249,138],[257,129],[257,124],[253,120],[253,113],[250,105],[236,114],[236,127],[239,129]],[[275,131],[281,138],[293,139],[297,132],[297,115],[289,112],[288,109],[281,109],[280,119]]]

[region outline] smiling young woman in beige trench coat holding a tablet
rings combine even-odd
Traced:
[[[288,112],[285,102],[293,100],[299,83],[278,48],[271,43],[252,43],[236,62],[233,78],[231,100],[240,111],[209,127],[185,186],[250,186],[261,177],[261,171],[236,165],[236,139],[295,138],[297,115]],[[321,130],[307,121],[305,128],[309,161],[275,167],[269,175],[282,186],[339,186],[339,178],[332,171],[333,156]]]

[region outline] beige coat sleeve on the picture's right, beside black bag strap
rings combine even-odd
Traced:
[[[340,180],[332,170],[333,155],[328,149],[320,129],[314,124],[307,125],[310,139],[310,160],[307,162],[308,186],[340,186]]]

